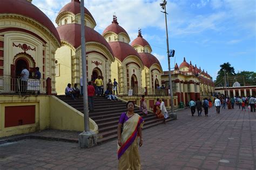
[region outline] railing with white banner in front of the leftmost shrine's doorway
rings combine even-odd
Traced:
[[[46,79],[29,78],[24,81],[21,77],[13,78],[8,75],[0,77],[0,94],[45,94]]]

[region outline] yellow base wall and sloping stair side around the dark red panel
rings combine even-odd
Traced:
[[[35,124],[4,127],[6,106],[35,105]],[[84,130],[84,117],[79,111],[55,96],[0,96],[0,138],[15,134],[30,133],[47,128],[56,130]],[[97,124],[90,119],[90,129],[98,133]]]

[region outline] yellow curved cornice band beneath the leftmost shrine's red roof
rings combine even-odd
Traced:
[[[35,28],[37,28],[38,30],[45,33],[45,35],[47,35],[51,39],[51,42],[56,46],[56,50],[57,50],[58,47],[60,47],[58,39],[53,35],[53,33],[51,33],[51,31],[48,28],[46,28],[43,24],[37,22],[35,19],[25,17],[25,16],[21,16],[21,15],[16,15],[14,13],[8,13],[8,15],[0,14],[0,20],[3,20],[3,19],[6,19],[6,20],[8,20],[8,19],[12,20],[13,19],[13,20],[17,20],[17,22],[29,23],[32,26],[34,26]],[[31,31],[31,30],[29,30],[29,31]]]

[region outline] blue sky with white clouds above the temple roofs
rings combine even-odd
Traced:
[[[33,0],[55,23],[59,10],[71,0]],[[85,0],[102,33],[115,12],[131,42],[142,29],[164,71],[168,70],[164,13],[161,0]],[[219,65],[230,62],[237,71],[256,72],[256,10],[254,0],[167,0],[170,49],[176,50],[171,67],[186,57],[213,79]],[[56,25],[56,24],[55,24]]]

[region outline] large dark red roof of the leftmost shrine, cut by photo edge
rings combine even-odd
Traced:
[[[44,25],[57,38],[60,43],[58,32],[51,20],[35,5],[26,0],[1,0],[0,13],[15,13],[34,19]]]

